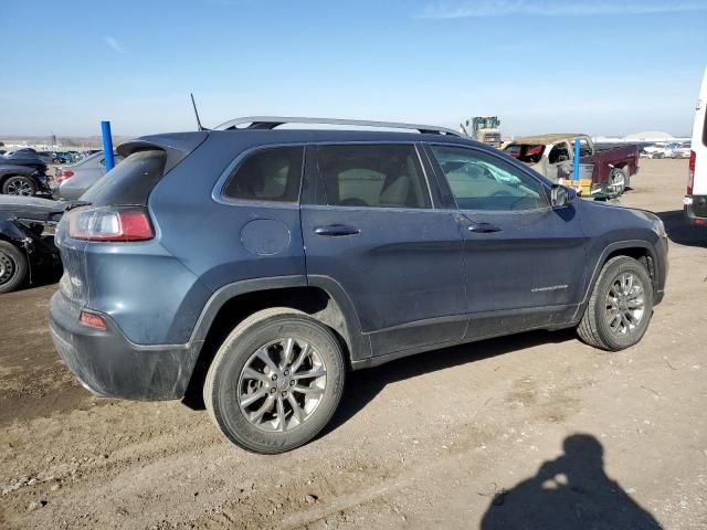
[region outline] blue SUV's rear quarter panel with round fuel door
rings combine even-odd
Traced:
[[[211,197],[231,162],[263,144],[251,136],[254,135],[210,132],[149,198],[161,244],[212,290],[255,277],[306,274],[297,203],[224,204]],[[243,244],[244,239],[264,241],[272,235],[267,233],[271,227],[281,231],[284,247],[268,252],[266,245],[254,248],[250,244],[249,250]]]

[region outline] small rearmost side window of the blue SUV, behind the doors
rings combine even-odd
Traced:
[[[241,162],[223,188],[223,197],[241,201],[296,202],[304,147],[258,150]]]

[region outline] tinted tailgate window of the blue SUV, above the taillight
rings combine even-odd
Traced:
[[[167,153],[160,149],[134,152],[81,195],[92,204],[146,205],[165,172]]]

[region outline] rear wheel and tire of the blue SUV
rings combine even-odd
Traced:
[[[302,311],[271,308],[229,335],[209,368],[203,398],[233,443],[284,453],[329,422],[345,375],[344,352],[329,328]]]

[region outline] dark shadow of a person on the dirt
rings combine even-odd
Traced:
[[[659,530],[663,527],[604,471],[603,447],[589,434],[564,438],[564,454],[535,477],[498,491],[482,530]]]

